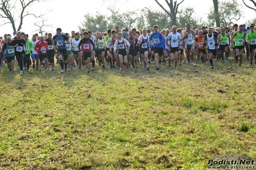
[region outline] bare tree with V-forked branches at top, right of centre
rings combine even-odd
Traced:
[[[158,0],[155,0],[155,2],[164,10],[164,12],[167,13],[167,15],[169,15],[169,17],[171,17],[171,24],[173,26],[176,26],[176,15],[178,13],[178,6],[180,6],[181,3],[183,3],[184,0],[180,1],[180,3],[177,3],[177,1],[175,0],[173,2],[173,0],[166,0],[166,3],[169,7],[169,10],[166,10],[166,8],[164,8],[164,6],[159,3]]]

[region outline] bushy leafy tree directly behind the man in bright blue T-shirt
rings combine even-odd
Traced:
[[[171,20],[165,12],[152,11],[148,8],[142,10],[144,20],[146,20],[146,27],[152,29],[153,26],[157,25],[159,29],[170,29]]]

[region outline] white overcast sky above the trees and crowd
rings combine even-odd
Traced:
[[[159,1],[167,7],[165,0]],[[115,4],[111,4],[114,2]],[[237,0],[237,2],[239,2],[240,6],[243,6],[242,0]],[[46,28],[44,31],[55,32],[56,27],[61,27],[63,32],[70,33],[72,30],[79,31],[78,26],[81,26],[81,22],[84,20],[83,16],[86,13],[99,12],[109,15],[110,13],[107,10],[108,6],[113,6],[113,8],[120,9],[125,12],[127,10],[139,11],[142,8],[160,10],[160,7],[157,5],[157,3],[155,3],[155,0],[56,0],[47,3],[35,3],[33,4],[33,9],[31,9],[30,12],[38,14],[47,12],[44,17],[46,19],[45,24],[53,24],[53,26],[52,28]],[[212,6],[212,0],[185,0],[179,9],[181,10],[182,8],[192,7],[198,16],[202,17],[204,20],[207,20],[207,13],[209,13],[210,7]],[[48,12],[49,10],[51,10],[51,12]],[[241,10],[244,12],[244,17],[239,20],[237,24],[244,24],[247,20],[252,20],[256,17],[255,12],[249,8],[241,7]],[[26,17],[24,19],[24,24],[21,31],[28,33],[29,35],[33,34],[35,29],[37,29],[37,27],[35,27],[33,24],[34,22],[36,22],[35,18]],[[12,34],[12,26],[10,24],[0,26],[0,33],[1,36],[3,36],[4,33]]]

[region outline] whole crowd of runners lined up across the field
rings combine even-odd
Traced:
[[[230,56],[241,66],[244,52],[250,65],[253,65],[256,54],[255,28],[254,24],[247,28],[245,24],[234,24],[215,29],[187,24],[183,29],[173,26],[160,31],[156,25],[153,29],[133,28],[132,31],[115,27],[106,33],[92,33],[83,29],[81,33],[71,31],[71,35],[57,28],[55,35],[35,34],[31,40],[28,34],[17,31],[13,38],[8,34],[0,37],[0,65],[7,65],[13,74],[17,63],[20,74],[24,75],[31,65],[35,70],[44,68],[46,73],[47,70],[55,71],[55,63],[60,65],[61,73],[71,72],[74,66],[81,71],[82,65],[89,73],[98,62],[103,69],[108,65],[124,73],[130,67],[137,72],[138,63],[144,63],[146,70],[149,70],[150,64],[159,70],[161,63],[167,62],[168,66],[173,63],[173,70],[176,71],[178,64],[195,66],[194,59],[201,59],[202,64],[209,60],[214,69],[216,59],[225,63]]]

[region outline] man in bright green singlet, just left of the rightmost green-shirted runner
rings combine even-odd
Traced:
[[[245,33],[243,32],[243,25],[239,26],[239,31],[235,32],[231,37],[232,40],[235,40],[235,63],[238,62],[239,59],[239,66],[241,66],[243,61],[243,52],[244,52],[244,42],[245,42]]]

